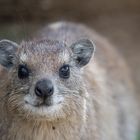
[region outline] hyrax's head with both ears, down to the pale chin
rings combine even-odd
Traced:
[[[79,115],[86,96],[81,67],[93,51],[86,39],[71,46],[49,40],[21,45],[0,41],[0,64],[9,71],[8,110],[16,116],[48,121]]]

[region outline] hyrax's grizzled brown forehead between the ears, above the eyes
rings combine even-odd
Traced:
[[[18,51],[19,63],[34,69],[56,71],[58,67],[70,62],[72,51],[59,41],[42,40],[23,42]]]

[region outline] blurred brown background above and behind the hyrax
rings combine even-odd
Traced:
[[[84,23],[116,46],[140,98],[140,0],[0,0],[0,39],[20,42],[58,20]]]

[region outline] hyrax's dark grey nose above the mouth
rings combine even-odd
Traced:
[[[54,92],[53,84],[48,79],[42,79],[36,83],[35,94],[40,98],[47,98]]]

